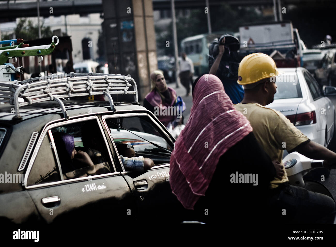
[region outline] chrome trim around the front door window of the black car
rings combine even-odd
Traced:
[[[170,136],[169,135],[167,135],[167,133],[166,133],[166,131],[152,118],[152,116],[150,116],[149,114],[147,114],[147,113],[136,113],[136,114],[134,114],[134,113],[125,113],[125,114],[118,114],[118,115],[102,115],[101,116],[101,119],[102,119],[102,122],[103,122],[103,124],[104,124],[104,127],[107,129],[107,130],[109,130],[110,128],[107,126],[107,123],[106,123],[106,120],[105,119],[109,119],[109,118],[124,118],[124,117],[139,117],[139,116],[146,116],[146,117],[148,117],[149,119],[151,119],[152,120],[152,123],[154,123],[153,125],[155,125],[155,127],[157,128],[157,129],[159,129],[159,130],[161,130],[162,131],[162,133],[164,133],[164,135],[165,135],[165,139],[166,140],[169,140],[169,142],[171,142],[171,143],[169,143],[172,147],[174,147],[174,141],[170,138]],[[117,158],[118,158],[118,161],[119,161],[119,164],[120,164],[120,166],[121,166],[121,168],[122,168],[122,171],[123,172],[125,172],[125,168],[124,168],[124,166],[123,166],[123,164],[122,164],[122,162],[121,162],[121,159],[120,159],[120,156],[119,156],[119,154],[118,154],[118,151],[117,151],[117,147],[116,147],[116,144],[114,143],[114,141],[113,141],[113,138],[112,138],[112,135],[111,135],[111,131],[107,131],[108,132],[108,134],[109,134],[109,138],[111,139],[111,142],[112,142],[112,145],[113,145],[113,148],[114,148],[114,152],[117,154]]]

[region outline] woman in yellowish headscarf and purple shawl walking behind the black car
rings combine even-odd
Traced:
[[[152,90],[143,100],[143,106],[151,111],[165,127],[183,124],[184,102],[173,88],[167,86],[163,72],[156,70],[151,74]],[[173,114],[169,107],[174,107]]]

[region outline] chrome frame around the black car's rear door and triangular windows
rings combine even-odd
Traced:
[[[93,176],[91,176],[91,178],[109,176],[109,175],[111,175],[113,173],[118,173],[118,171],[116,169],[116,166],[115,166],[115,163],[114,163],[114,160],[112,158],[111,150],[110,150],[110,147],[108,145],[106,135],[103,132],[103,129],[102,129],[102,126],[101,126],[101,123],[99,121],[98,116],[89,116],[89,117],[84,117],[84,118],[65,120],[65,121],[56,122],[56,123],[55,122],[51,122],[51,123],[46,124],[45,127],[43,128],[43,130],[41,131],[41,134],[40,134],[39,139],[37,141],[36,147],[35,147],[35,149],[33,151],[31,159],[29,160],[28,168],[27,168],[27,171],[26,171],[26,176],[29,178],[29,174],[30,174],[30,172],[32,170],[32,167],[33,167],[33,164],[34,164],[34,162],[36,160],[37,154],[38,154],[38,152],[39,152],[39,150],[41,148],[43,139],[44,139],[44,137],[46,135],[48,135],[49,140],[51,141],[53,147],[55,147],[55,142],[54,142],[54,139],[52,137],[51,129],[57,128],[57,127],[60,127],[60,126],[64,126],[64,125],[67,125],[67,124],[85,122],[85,121],[89,121],[89,120],[96,120],[96,123],[97,123],[97,125],[98,125],[98,127],[100,129],[102,138],[104,140],[104,143],[106,145],[106,149],[108,151],[109,161],[112,164],[112,167],[110,167],[110,168],[114,169],[114,171],[111,171],[111,173],[105,173],[105,174],[100,174],[100,175],[93,175]],[[61,174],[62,170],[61,170],[59,158],[58,158],[58,155],[57,155],[57,150],[56,150],[56,148],[53,148],[52,150],[53,150],[52,151],[53,155],[56,158],[55,162],[57,162],[57,167],[58,167],[59,174]],[[36,187],[50,186],[50,185],[58,184],[58,183],[62,183],[62,182],[73,182],[73,181],[85,180],[85,179],[87,179],[87,177],[73,178],[73,179],[64,180],[63,176],[60,176],[60,180],[57,181],[57,182],[48,182],[48,183],[42,183],[42,184],[36,184],[36,185],[28,185],[27,184],[28,179],[25,179],[25,185],[24,186],[25,186],[26,189],[32,189],[32,188],[36,188]]]

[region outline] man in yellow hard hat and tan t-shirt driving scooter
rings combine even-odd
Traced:
[[[276,76],[280,74],[268,55],[259,52],[245,56],[238,69],[238,84],[243,85],[245,96],[235,105],[236,109],[250,121],[264,151],[282,166],[283,150],[286,149],[289,153],[296,151],[311,159],[325,160],[327,168],[335,168],[334,152],[311,141],[279,111],[265,107],[274,101]],[[334,200],[289,185],[284,167],[283,170],[282,179],[271,181],[270,201],[275,206],[275,215],[285,222],[333,223],[336,214]],[[287,215],[293,217],[282,217],[283,208],[287,210]]]

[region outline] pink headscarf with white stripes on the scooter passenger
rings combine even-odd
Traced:
[[[194,88],[190,118],[170,158],[170,187],[185,208],[194,209],[209,187],[220,156],[251,131],[218,77],[203,75]]]

